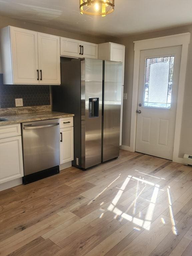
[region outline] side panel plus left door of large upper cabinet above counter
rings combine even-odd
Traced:
[[[38,84],[37,32],[16,27],[1,30],[4,84]]]

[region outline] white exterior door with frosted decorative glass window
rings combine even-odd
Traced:
[[[172,160],[181,46],[141,51],[136,151]]]

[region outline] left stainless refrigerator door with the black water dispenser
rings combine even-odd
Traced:
[[[103,61],[81,60],[81,167],[101,163]]]

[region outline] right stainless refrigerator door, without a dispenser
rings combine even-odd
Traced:
[[[102,161],[119,156],[122,62],[103,61],[103,154]]]

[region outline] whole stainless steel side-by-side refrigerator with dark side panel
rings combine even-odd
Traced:
[[[119,156],[122,63],[61,58],[52,109],[73,113],[74,160],[87,169]]]

